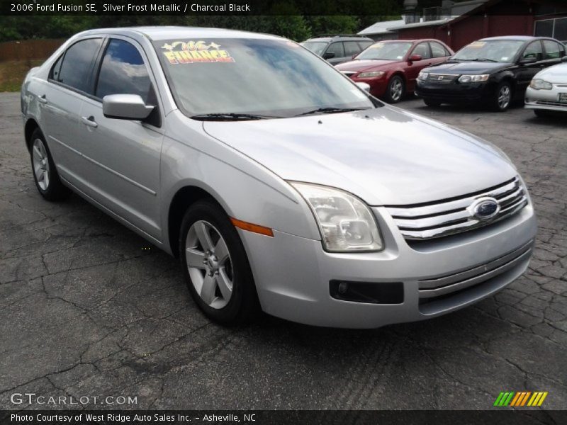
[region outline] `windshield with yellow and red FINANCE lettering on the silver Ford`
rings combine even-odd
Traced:
[[[349,79],[288,40],[161,40],[154,46],[177,106],[191,117],[374,108]]]

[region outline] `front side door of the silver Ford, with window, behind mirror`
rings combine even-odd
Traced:
[[[142,47],[127,38],[110,38],[101,56],[93,98],[81,110],[86,159],[84,191],[104,207],[155,239],[159,226],[159,162],[162,108]],[[103,98],[137,94],[155,106],[139,120],[107,118]]]

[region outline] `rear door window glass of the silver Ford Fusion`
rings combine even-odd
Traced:
[[[101,44],[101,38],[89,38],[69,47],[63,57],[56,81],[91,94],[91,70]]]

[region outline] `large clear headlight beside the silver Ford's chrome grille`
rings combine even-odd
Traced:
[[[315,215],[327,251],[380,251],[378,225],[370,208],[350,193],[327,186],[290,182]]]

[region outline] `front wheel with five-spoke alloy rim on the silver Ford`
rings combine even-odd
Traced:
[[[255,317],[259,302],[248,258],[218,205],[191,205],[181,223],[179,253],[191,297],[208,318],[235,325]]]

